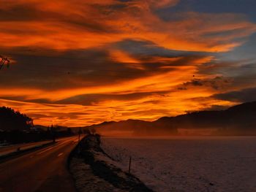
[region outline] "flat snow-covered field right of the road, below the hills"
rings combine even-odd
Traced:
[[[102,148],[154,191],[256,191],[256,137],[102,138]]]

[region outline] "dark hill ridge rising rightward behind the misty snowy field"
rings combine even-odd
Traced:
[[[239,104],[222,111],[191,112],[176,117],[144,120],[110,121],[86,126],[103,134],[130,134],[133,136],[167,136],[178,133],[178,128],[216,128],[215,134],[256,135],[256,101]]]

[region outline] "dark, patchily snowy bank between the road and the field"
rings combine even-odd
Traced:
[[[138,178],[116,167],[99,143],[99,137],[90,135],[72,152],[69,169],[78,191],[151,191]]]

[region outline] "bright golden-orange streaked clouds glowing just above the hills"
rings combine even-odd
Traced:
[[[155,58],[157,61],[167,62],[167,58]],[[210,61],[208,56],[190,61],[189,66],[173,67],[174,70],[154,74],[148,77],[140,77],[136,80],[124,81],[114,85],[95,86],[90,88],[57,89],[44,91],[31,88],[0,89],[0,97],[12,96],[14,99],[23,96],[24,101],[0,99],[0,105],[7,105],[20,110],[32,118],[34,123],[50,125],[59,124],[65,126],[81,126],[91,123],[99,123],[104,120],[124,120],[138,118],[143,120],[155,120],[163,115],[178,115],[189,110],[200,110],[208,104],[230,105],[231,102],[208,100],[208,103],[199,104],[191,101],[191,98],[208,97],[218,93],[212,88],[197,87],[193,90],[178,91],[178,86],[191,80],[197,72],[197,65]],[[171,62],[178,58],[170,59]],[[203,76],[202,76],[203,77]],[[196,91],[195,91],[196,90]],[[152,91],[156,93],[150,94]],[[160,93],[160,92],[166,93]],[[131,94],[147,93],[138,99],[104,99],[92,102],[89,105],[81,104],[56,104],[61,99],[67,99],[86,94]],[[157,93],[159,92],[159,93]],[[178,98],[178,99],[177,99]],[[29,101],[33,100],[34,101]],[[37,102],[38,99],[45,99]]]

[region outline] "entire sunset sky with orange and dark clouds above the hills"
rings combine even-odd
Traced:
[[[256,100],[255,0],[0,0],[0,106],[86,126]]]

